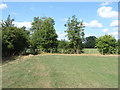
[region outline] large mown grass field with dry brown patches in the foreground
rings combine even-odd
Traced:
[[[3,64],[3,88],[117,88],[117,56],[25,56]]]

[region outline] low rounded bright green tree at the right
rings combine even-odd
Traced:
[[[116,39],[111,35],[104,35],[96,40],[96,47],[101,54],[115,54],[117,50]]]

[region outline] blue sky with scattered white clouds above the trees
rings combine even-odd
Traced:
[[[118,38],[118,2],[4,2],[0,9],[3,20],[10,14],[16,26],[27,29],[34,17],[53,18],[59,40],[67,40],[64,24],[73,15],[83,20],[85,37],[109,34]]]

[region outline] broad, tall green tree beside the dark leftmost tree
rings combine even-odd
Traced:
[[[57,51],[57,34],[54,29],[55,22],[52,18],[35,17],[32,22],[32,47],[45,52]]]

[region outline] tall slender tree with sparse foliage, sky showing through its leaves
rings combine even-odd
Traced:
[[[83,21],[78,21],[75,15],[72,16],[72,19],[68,18],[67,24],[67,37],[70,40],[70,47],[75,50],[76,53],[81,53],[82,51],[82,41],[84,38],[84,25]]]

